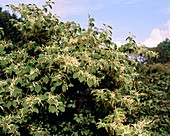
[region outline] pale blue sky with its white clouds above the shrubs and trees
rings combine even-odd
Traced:
[[[170,0],[53,0],[52,12],[62,21],[75,21],[87,27],[88,14],[95,24],[103,23],[113,27],[113,41],[124,43],[129,32],[136,41],[154,47],[165,38],[170,38]],[[7,4],[35,3],[43,0],[1,0],[3,8]]]

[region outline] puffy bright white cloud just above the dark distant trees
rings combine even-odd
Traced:
[[[154,28],[143,44],[147,47],[156,47],[166,38],[170,38],[170,20],[166,23],[165,29]]]

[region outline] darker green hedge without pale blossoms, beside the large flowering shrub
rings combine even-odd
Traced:
[[[139,115],[152,116],[150,129],[155,135],[167,136],[170,134],[170,65],[140,65],[139,72],[142,82],[138,87],[145,94]]]

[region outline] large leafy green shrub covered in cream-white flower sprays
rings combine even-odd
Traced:
[[[149,70],[129,57],[154,53],[131,36],[117,48],[111,27],[95,27],[90,16],[87,29],[62,22],[48,11],[52,3],[10,6],[21,14],[22,21],[11,21],[22,40],[0,40],[0,135],[168,134],[166,75],[161,90],[159,79],[152,88],[143,78]]]

